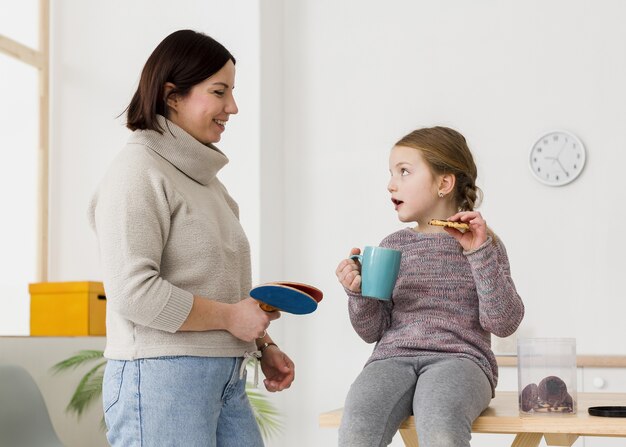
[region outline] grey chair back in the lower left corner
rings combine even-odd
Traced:
[[[0,447],[63,447],[31,375],[6,363],[0,363]]]

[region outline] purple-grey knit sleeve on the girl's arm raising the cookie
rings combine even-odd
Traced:
[[[498,337],[511,335],[524,317],[524,304],[511,278],[504,245],[490,237],[465,254],[476,282],[480,325]]]

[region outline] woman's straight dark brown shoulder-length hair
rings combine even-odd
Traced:
[[[192,30],[179,30],[167,36],[154,49],[141,72],[139,86],[126,109],[126,127],[163,133],[157,115],[167,117],[166,82],[174,84],[168,93],[186,96],[191,88],[213,76],[232,54],[218,41]]]

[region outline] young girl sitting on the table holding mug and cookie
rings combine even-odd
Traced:
[[[413,413],[420,445],[469,446],[498,380],[490,334],[512,334],[524,305],[504,245],[474,211],[480,190],[465,138],[446,127],[411,132],[391,150],[389,170],[398,218],[417,225],[380,244],[402,251],[391,301],[361,295],[354,260],[337,267],[354,330],[376,342],[346,398],[339,445],[388,445]],[[431,219],[469,229],[431,226]]]

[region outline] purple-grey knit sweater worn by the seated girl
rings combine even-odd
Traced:
[[[494,390],[498,366],[491,334],[511,335],[524,316],[504,245],[490,237],[464,252],[447,233],[410,228],[380,245],[402,251],[392,300],[347,291],[354,330],[367,343],[377,342],[367,363],[420,355],[465,357],[478,364]]]

